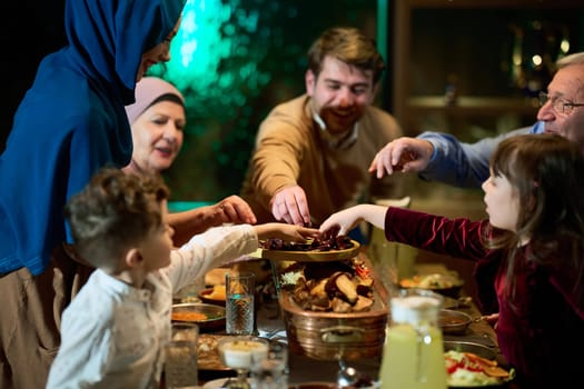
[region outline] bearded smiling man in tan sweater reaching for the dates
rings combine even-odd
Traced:
[[[258,222],[319,225],[372,194],[403,194],[397,177],[367,172],[376,152],[403,134],[394,117],[372,106],[384,69],[375,41],[357,29],[331,28],[313,43],[306,93],[259,127],[241,189]]]

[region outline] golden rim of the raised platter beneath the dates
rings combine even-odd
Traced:
[[[356,240],[350,240],[352,247],[346,249],[330,249],[323,250],[269,250],[258,249],[256,255],[258,258],[279,260],[279,261],[297,261],[297,262],[327,262],[338,261],[356,257],[359,253],[360,245]]]

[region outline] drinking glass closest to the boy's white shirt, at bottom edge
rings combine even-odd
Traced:
[[[199,327],[195,323],[172,323],[172,336],[165,345],[165,383],[168,389],[196,388],[197,342]]]

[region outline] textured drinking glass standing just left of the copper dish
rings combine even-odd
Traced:
[[[227,272],[225,288],[226,332],[253,335],[256,276],[253,272]]]

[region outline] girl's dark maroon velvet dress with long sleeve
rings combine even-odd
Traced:
[[[508,297],[507,252],[485,248],[481,237],[487,228],[488,220],[447,219],[392,207],[385,218],[387,240],[476,261],[481,308],[498,311],[498,346],[522,387],[568,388],[582,382],[583,359],[574,356],[584,352],[584,302],[573,292],[575,271],[565,265],[526,261],[526,246],[517,251],[516,291]]]

